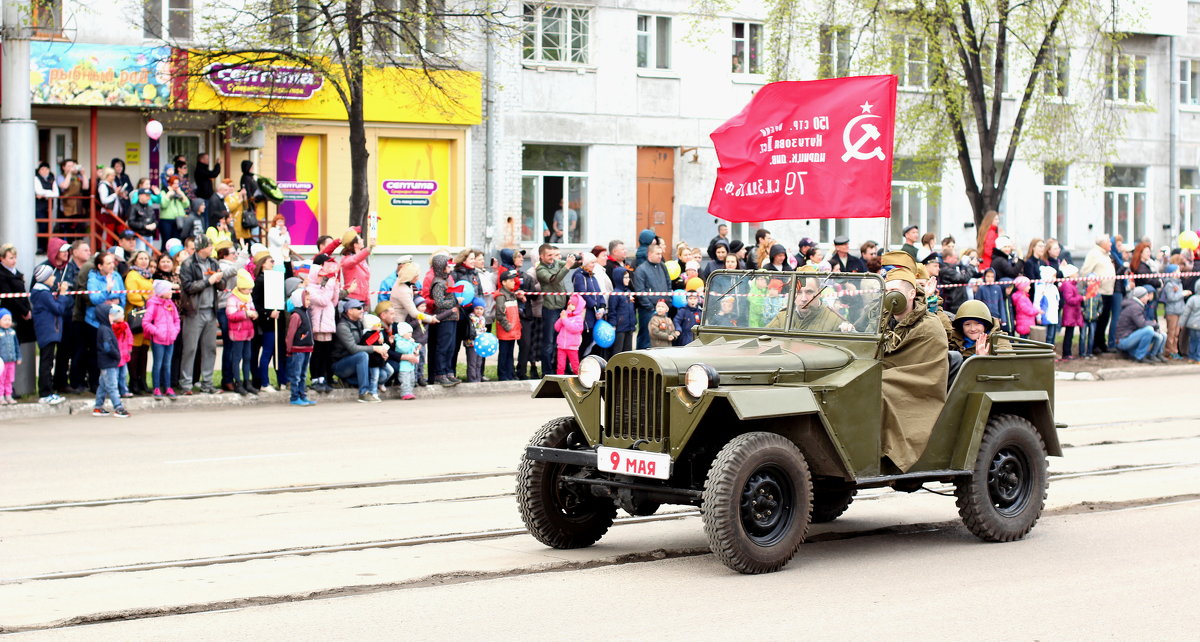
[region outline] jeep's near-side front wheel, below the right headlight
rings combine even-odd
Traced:
[[[701,517],[713,554],[745,574],[787,564],[804,541],[812,480],[796,444],[769,432],[734,437],[713,461]]]

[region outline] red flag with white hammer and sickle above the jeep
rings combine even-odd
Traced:
[[[892,212],[895,76],[772,83],[712,133],[708,212],[733,222]]]

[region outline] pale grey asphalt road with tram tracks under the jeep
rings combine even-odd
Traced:
[[[564,414],[560,401],[8,421],[0,630],[79,640],[1192,637],[1198,385],[1200,376],[1061,383],[1067,456],[1051,458],[1048,511],[1021,542],[977,541],[950,498],[870,491],[814,527],[782,572],[760,577],[709,556],[695,511],[682,506],[619,522],[582,551],[521,533],[511,473],[536,426]],[[58,506],[70,502],[98,505]],[[121,618],[133,619],[110,622]]]

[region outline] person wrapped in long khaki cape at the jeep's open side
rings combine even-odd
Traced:
[[[894,268],[886,287],[904,294],[907,305],[883,337],[883,456],[906,473],[925,451],[946,404],[947,336],[924,301],[914,302],[917,277],[911,270]]]

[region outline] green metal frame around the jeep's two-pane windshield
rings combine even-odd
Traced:
[[[738,328],[738,326],[728,326],[728,325],[710,325],[709,322],[712,320],[712,316],[716,314],[716,308],[715,307],[710,307],[710,304],[714,302],[714,301],[710,301],[710,296],[714,296],[714,298],[715,296],[720,296],[722,293],[721,292],[710,292],[709,284],[713,282],[714,278],[719,278],[722,275],[730,277],[731,280],[734,280],[732,282],[736,282],[736,280],[745,278],[748,275],[749,275],[749,278],[755,278],[755,277],[758,277],[758,276],[766,276],[766,277],[769,277],[769,278],[786,278],[788,281],[788,286],[787,286],[787,290],[788,292],[787,292],[787,302],[785,304],[785,306],[786,306],[785,310],[787,311],[787,323],[785,324],[785,326],[784,328],[767,328],[766,326],[766,322],[764,322],[764,324],[762,326],[742,326],[742,328]],[[779,272],[779,271],[774,271],[774,270],[725,270],[725,269],[722,269],[722,270],[714,270],[710,275],[708,275],[708,278],[704,282],[704,313],[701,317],[701,325],[697,326],[697,331],[706,331],[706,332],[709,332],[709,334],[738,334],[738,335],[754,335],[754,336],[758,336],[758,335],[763,335],[763,334],[768,334],[768,335],[781,334],[781,335],[792,335],[792,336],[815,336],[815,337],[822,337],[822,338],[838,338],[838,340],[862,340],[862,341],[878,341],[880,340],[880,337],[883,334],[883,329],[881,328],[881,324],[878,324],[878,323],[876,324],[876,328],[872,331],[869,331],[869,332],[859,332],[859,331],[854,331],[854,332],[818,332],[818,331],[814,331],[814,330],[805,330],[805,329],[793,328],[793,325],[794,325],[793,318],[796,316],[796,294],[797,294],[796,290],[799,287],[798,286],[798,283],[799,283],[799,278],[798,277],[800,277],[800,276],[803,276],[805,278],[820,278],[821,283],[824,287],[829,287],[828,286],[828,281],[830,278],[838,278],[838,280],[845,280],[845,281],[860,281],[860,282],[874,281],[874,282],[876,282],[877,283],[877,292],[880,293],[878,294],[878,301],[876,302],[876,305],[878,306],[877,318],[878,319],[883,318],[883,295],[887,293],[887,290],[886,290],[886,288],[883,286],[883,278],[880,275],[876,275],[876,274],[870,274],[870,272],[796,272],[796,271]],[[721,288],[719,288],[719,289],[724,289],[724,288],[725,288],[725,286],[722,284]],[[822,288],[822,290],[824,288]],[[863,289],[863,288],[859,287],[859,289]]]

